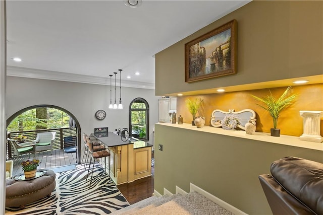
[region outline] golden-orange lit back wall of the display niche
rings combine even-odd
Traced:
[[[205,117],[205,125],[210,126],[210,117],[213,110],[220,109],[228,111],[234,109],[241,111],[251,109],[256,112],[256,131],[270,133],[273,128],[273,118],[270,114],[257,104],[251,95],[266,97],[272,92],[276,98],[280,97],[287,87],[249,90],[240,92],[206,94],[199,96],[177,97],[177,115],[181,114],[184,123],[191,123],[192,115],[186,107],[187,99],[203,99],[202,106],[197,114]],[[300,116],[300,110],[318,110],[323,111],[323,84],[302,85],[292,87],[293,93],[298,97],[295,103],[286,107],[278,118],[277,128],[281,129],[281,134],[300,136],[303,134],[303,118]],[[320,134],[323,136],[323,120],[320,121]]]

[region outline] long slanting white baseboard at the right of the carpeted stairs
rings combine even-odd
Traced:
[[[219,204],[220,206],[226,208],[227,210],[231,211],[234,214],[243,214],[243,215],[247,215],[247,213],[243,212],[242,210],[239,210],[238,208],[232,206],[231,204],[223,201],[222,199],[212,195],[211,193],[199,188],[198,186],[190,183],[190,192],[192,191],[196,191],[199,194],[205,196],[206,198],[208,198],[209,200]]]

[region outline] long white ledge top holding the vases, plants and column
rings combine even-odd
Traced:
[[[298,136],[281,135],[279,137],[276,137],[276,136],[271,136],[270,133],[263,133],[263,132],[256,132],[255,134],[246,134],[244,130],[225,130],[222,128],[205,126],[205,125],[202,128],[197,128],[196,126],[192,126],[191,124],[187,124],[187,123],[183,123],[179,125],[179,124],[158,122],[156,124],[176,127],[176,128],[183,128],[188,130],[195,130],[200,132],[234,136],[234,137],[245,138],[245,139],[253,139],[253,140],[258,140],[263,142],[271,142],[273,144],[282,144],[287,146],[323,151],[322,142],[319,143],[319,142],[304,141],[304,140],[300,140]]]

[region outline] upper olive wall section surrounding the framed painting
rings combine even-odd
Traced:
[[[155,94],[321,75],[322,11],[322,1],[252,1],[157,53]],[[237,74],[185,83],[185,43],[233,19],[237,20]]]

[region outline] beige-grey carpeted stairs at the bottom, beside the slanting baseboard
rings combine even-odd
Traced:
[[[141,214],[233,214],[213,201],[207,199],[197,192],[186,195],[176,194],[173,196],[162,196],[144,199],[140,202],[122,208],[115,214],[141,215]]]

